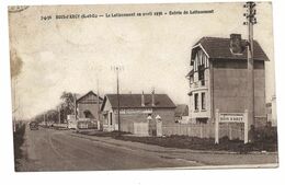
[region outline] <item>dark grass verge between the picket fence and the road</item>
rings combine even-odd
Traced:
[[[224,137],[219,140],[219,144],[215,144],[214,138],[198,138],[189,136],[169,136],[169,137],[137,137],[127,132],[112,131],[80,131],[80,134],[111,137],[124,141],[142,142],[167,148],[192,149],[192,150],[207,150],[207,151],[230,151],[239,153],[248,153],[250,151],[277,151],[277,143],[272,140],[256,140],[254,143],[244,144],[242,140],[229,140]]]

